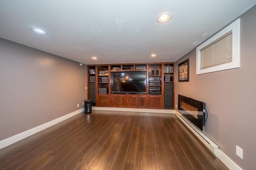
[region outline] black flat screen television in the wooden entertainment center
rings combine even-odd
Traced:
[[[111,73],[111,93],[146,93],[146,72]]]

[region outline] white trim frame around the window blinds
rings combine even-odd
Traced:
[[[208,44],[214,42],[218,38],[224,36],[226,33],[232,31],[232,62],[214,67],[200,69],[200,49],[206,47]],[[196,74],[210,73],[214,71],[221,71],[226,69],[234,69],[240,67],[240,18],[232,22],[226,28],[215,34],[212,38],[196,47]]]

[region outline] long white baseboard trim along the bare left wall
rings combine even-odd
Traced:
[[[11,145],[11,144],[13,144],[15,142],[18,142],[19,140],[22,140],[22,139],[24,139],[24,138],[26,138],[28,136],[31,136],[32,134],[36,134],[37,132],[40,132],[40,131],[48,128],[48,127],[56,125],[57,123],[60,123],[60,122],[66,120],[66,119],[68,119],[70,117],[73,117],[74,115],[77,115],[77,114],[79,114],[79,113],[81,113],[83,111],[84,111],[84,108],[83,109],[79,109],[77,111],[69,113],[68,115],[64,115],[64,116],[59,117],[59,118],[57,118],[57,119],[55,119],[53,121],[44,123],[43,125],[40,125],[38,127],[32,128],[32,129],[27,130],[25,132],[21,132],[19,134],[16,134],[16,135],[10,137],[10,138],[1,140],[0,141],[0,149],[4,148],[6,146],[9,146],[9,145]]]

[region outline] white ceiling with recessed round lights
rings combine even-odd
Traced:
[[[84,64],[170,62],[255,4],[256,0],[1,0],[0,37]],[[172,20],[156,22],[162,12],[171,12]],[[31,27],[48,34],[37,34]]]

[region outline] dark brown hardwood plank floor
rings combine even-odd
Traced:
[[[0,150],[0,170],[227,170],[174,114],[80,113]]]

